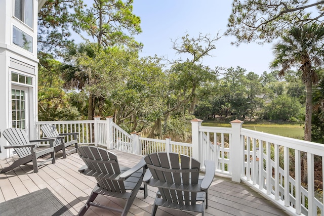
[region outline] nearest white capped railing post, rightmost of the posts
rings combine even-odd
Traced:
[[[233,182],[241,182],[241,163],[242,160],[243,147],[241,146],[240,138],[240,130],[242,128],[242,124],[244,121],[234,120],[230,122],[232,125],[232,143],[229,145],[229,159],[231,162],[232,168],[232,181]]]

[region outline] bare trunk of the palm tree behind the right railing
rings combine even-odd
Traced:
[[[312,140],[312,82],[306,83],[306,111],[305,111],[305,131],[304,140]],[[307,153],[303,154],[303,182],[307,182]]]

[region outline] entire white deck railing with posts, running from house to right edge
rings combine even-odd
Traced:
[[[244,129],[243,122],[238,120],[232,121],[231,127],[206,127],[201,126],[201,122],[199,119],[192,121],[192,143],[130,135],[113,123],[112,118],[36,124],[38,137],[42,136],[40,125],[51,123],[56,125],[59,133],[79,133],[80,144],[100,145],[140,155],[177,152],[198,159],[201,166],[205,160],[213,160],[216,174],[229,176],[235,182],[246,182],[291,215],[324,215],[323,193],[315,193],[314,177],[314,156],[324,159],[323,144]],[[301,181],[304,153],[307,184]],[[321,175],[323,170],[324,163],[321,163]]]

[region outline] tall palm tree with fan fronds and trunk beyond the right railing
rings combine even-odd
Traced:
[[[299,66],[302,71],[302,80],[306,87],[306,111],[304,140],[311,141],[311,119],[312,119],[312,85],[318,82],[315,72],[316,66],[323,62],[324,49],[324,26],[316,23],[291,28],[286,36],[282,36],[281,42],[273,46],[274,60],[270,68],[278,69],[279,75],[294,66]],[[307,178],[307,154],[304,154],[304,176]]]

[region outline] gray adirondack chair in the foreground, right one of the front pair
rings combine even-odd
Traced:
[[[156,152],[144,159],[148,167],[144,184],[158,188],[151,215],[155,215],[158,206],[204,215],[205,206],[208,206],[208,188],[215,175],[213,161],[205,161],[206,173],[203,178],[199,177],[200,163],[193,158],[190,161],[186,155],[179,158],[177,153]]]

